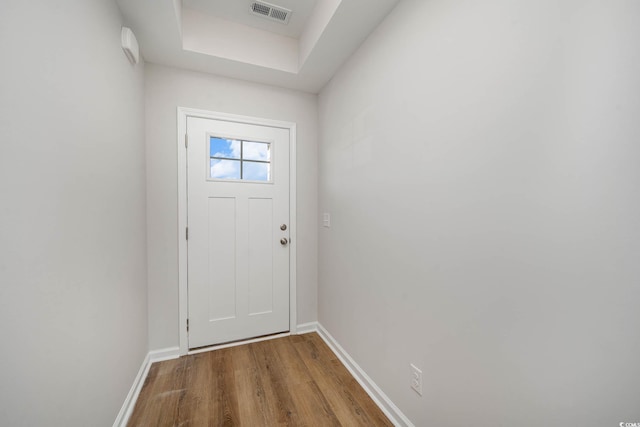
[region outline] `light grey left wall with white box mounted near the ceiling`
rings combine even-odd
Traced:
[[[110,425],[147,353],[143,68],[112,0],[0,3],[0,424]]]

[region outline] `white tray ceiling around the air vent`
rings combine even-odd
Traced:
[[[145,61],[317,93],[399,0],[116,0]]]

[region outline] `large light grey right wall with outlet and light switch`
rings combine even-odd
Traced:
[[[415,425],[640,421],[639,40],[633,0],[404,0],[322,90],[319,320]]]

